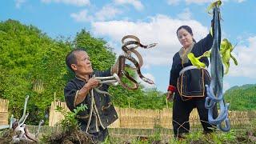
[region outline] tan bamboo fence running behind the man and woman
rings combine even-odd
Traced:
[[[0,125],[8,124],[8,100],[0,98]],[[64,117],[56,111],[57,106],[64,110],[70,111],[66,102],[51,102],[49,126],[42,126],[42,133],[58,132],[60,122]],[[132,108],[115,107],[118,113],[118,120],[109,126],[111,135],[135,135],[146,136],[156,132],[164,137],[170,136],[172,129],[172,110],[137,110]],[[246,129],[253,126],[256,119],[256,111],[229,111],[231,129]],[[196,109],[190,114],[190,127],[192,131],[202,129],[201,122]],[[29,126],[30,131],[34,134],[38,130],[38,126]],[[160,130],[160,131],[159,131]]]

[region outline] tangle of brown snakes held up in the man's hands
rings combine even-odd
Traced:
[[[128,38],[130,38],[132,40],[129,40],[126,42],[126,39],[128,39]],[[150,45],[145,46],[145,45],[142,45],[140,43],[140,40],[138,39],[138,37],[136,37],[134,35],[124,36],[122,38],[122,50],[123,50],[124,54],[121,54],[118,57],[117,73],[113,74],[113,76],[110,76],[110,77],[98,77],[96,79],[100,80],[101,84],[102,83],[112,83],[114,85],[117,85],[119,83],[121,86],[123,86],[124,88],[126,88],[128,90],[136,90],[136,89],[138,89],[138,82],[134,78],[132,78],[130,76],[130,74],[125,70],[125,68],[128,67],[132,70],[136,70],[138,77],[141,78],[144,82],[154,84],[154,82],[152,80],[150,80],[149,78],[146,78],[145,76],[142,75],[141,70],[140,70],[143,65],[142,56],[135,49],[137,49],[138,47],[148,49],[148,48],[154,47],[156,45],[157,45],[157,43],[152,43]],[[132,57],[132,55],[131,55],[132,53],[137,56],[138,61],[134,57]],[[130,62],[132,62],[135,67],[127,65],[126,59],[129,60]],[[133,86],[128,86],[126,83],[122,82],[121,78],[123,75],[125,75],[126,78],[128,78],[130,80],[130,82],[133,83]],[[103,93],[102,91],[100,91],[100,92]]]

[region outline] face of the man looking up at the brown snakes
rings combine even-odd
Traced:
[[[74,55],[77,59],[77,64],[72,64],[71,67],[76,74],[86,75],[94,71],[90,63],[90,57],[85,51],[75,52]]]

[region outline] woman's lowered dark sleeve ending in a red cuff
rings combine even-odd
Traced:
[[[167,88],[167,91],[172,91],[172,92],[176,91],[178,72],[179,72],[176,67],[177,66],[176,66],[176,64],[174,62],[174,58],[173,58],[173,64],[172,64],[171,69],[170,69],[170,82],[169,82],[169,86]]]

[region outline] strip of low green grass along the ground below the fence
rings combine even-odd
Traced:
[[[256,143],[256,120],[250,125],[231,126],[228,133],[220,130],[211,134],[203,134],[202,126],[192,127],[190,134],[185,134],[182,139],[175,139],[171,129],[155,126],[154,129],[125,129],[110,128],[110,135],[104,144],[130,143],[130,144],[150,144],[150,143],[174,143],[174,144],[200,144],[200,143]],[[32,134],[37,130],[37,126],[29,126]],[[58,127],[42,126],[41,134],[58,132]],[[0,137],[3,134],[0,133]],[[0,142],[1,143],[1,142]]]

